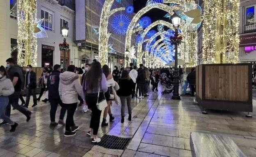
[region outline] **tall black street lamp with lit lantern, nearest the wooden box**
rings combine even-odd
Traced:
[[[178,27],[181,23],[181,18],[174,12],[174,14],[171,16],[172,24],[175,28],[174,36],[178,37]],[[175,66],[174,66],[174,91],[172,95],[173,100],[181,100],[180,94],[179,94],[179,75],[178,75],[178,44],[175,43]]]

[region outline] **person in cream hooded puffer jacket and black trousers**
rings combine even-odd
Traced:
[[[79,126],[75,126],[73,117],[78,95],[82,96],[82,86],[78,77],[74,65],[69,65],[67,71],[59,75],[59,97],[67,109],[65,137],[76,135],[75,131],[79,129]]]

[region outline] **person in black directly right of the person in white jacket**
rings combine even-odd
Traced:
[[[144,98],[144,85],[145,85],[146,74],[143,70],[143,64],[139,64],[138,76],[137,76],[137,87],[139,89],[139,99]]]

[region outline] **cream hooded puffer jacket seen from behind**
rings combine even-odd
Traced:
[[[82,86],[78,80],[79,76],[70,71],[59,75],[59,97],[64,104],[78,102],[78,94],[82,97]]]

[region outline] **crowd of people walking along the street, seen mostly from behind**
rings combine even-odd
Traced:
[[[139,64],[137,68],[133,63],[130,63],[130,67],[126,69],[121,68],[120,71],[117,66],[114,66],[114,70],[110,73],[107,65],[102,66],[100,62],[94,60],[92,64],[86,64],[82,68],[69,65],[66,71],[63,71],[58,64],[53,68],[45,67],[37,79],[37,74],[32,70],[31,65],[27,65],[26,71],[23,71],[12,58],[7,59],[6,62],[6,68],[0,67],[0,117],[4,120],[0,126],[10,124],[11,132],[18,126],[10,119],[11,106],[23,113],[28,122],[32,114],[28,110],[30,97],[33,97],[32,107],[35,107],[46,92],[45,99],[42,101],[50,102],[50,127],[58,124],[65,126],[65,137],[76,135],[75,132],[79,129],[73,119],[78,106],[83,105],[87,108],[85,112],[91,111],[90,131],[87,136],[92,138],[92,143],[101,142],[97,136],[101,112],[103,111],[101,127],[108,125],[107,115],[110,117],[109,122],[114,120],[111,112],[112,101],[121,104],[121,123],[125,120],[126,106],[128,121],[131,121],[131,100],[148,97],[150,83],[152,91],[158,91],[161,73],[166,73],[170,78],[173,77],[172,69],[147,68],[143,64]],[[182,73],[181,69],[180,75]],[[193,78],[190,75],[188,80]],[[39,97],[36,96],[37,88],[40,88]],[[26,91],[26,101],[23,100],[23,89]],[[18,104],[19,99],[21,99],[21,105]],[[100,106],[103,100],[106,101],[106,106],[102,109]],[[58,105],[61,110],[59,121],[56,122],[55,114]],[[64,121],[66,113],[66,121]]]

